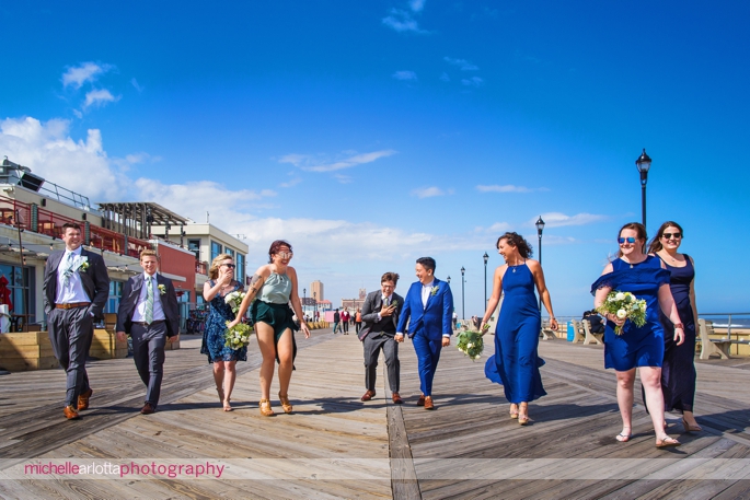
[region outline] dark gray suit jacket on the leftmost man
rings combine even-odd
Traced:
[[[43,300],[44,312],[49,313],[55,309],[55,298],[57,296],[57,268],[60,266],[60,260],[65,256],[65,251],[56,251],[49,254],[47,264],[44,267],[44,284],[43,284]],[[89,312],[93,313],[94,317],[101,319],[104,317],[104,305],[109,296],[109,275],[104,259],[101,255],[81,249],[81,257],[88,257],[89,268],[84,271],[79,271],[83,290],[85,290],[91,305]]]

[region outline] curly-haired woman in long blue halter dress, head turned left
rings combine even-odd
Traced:
[[[495,354],[487,360],[484,372],[487,379],[503,385],[510,402],[510,417],[526,426],[529,402],[546,394],[539,373],[544,360],[536,352],[542,318],[534,287],[550,313],[553,329],[557,329],[557,319],[552,312],[542,266],[529,258],[529,242],[517,233],[505,233],[497,240],[497,251],[505,258],[505,265],[495,270],[493,294],[487,301],[481,332],[486,329],[503,292],[505,296],[495,332]]]

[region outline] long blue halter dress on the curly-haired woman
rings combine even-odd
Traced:
[[[484,373],[503,385],[510,403],[528,403],[546,392],[539,368],[539,334],[542,317],[534,294],[534,277],[524,264],[508,266],[503,275],[503,306],[495,330],[495,354],[484,365]]]

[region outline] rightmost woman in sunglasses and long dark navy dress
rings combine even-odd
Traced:
[[[680,411],[685,432],[699,432],[701,426],[693,415],[695,399],[695,332],[697,310],[695,309],[695,267],[693,259],[680,254],[678,248],[684,233],[677,222],[667,221],[659,228],[648,246],[648,253],[662,261],[669,271],[669,288],[677,305],[677,312],[684,323],[685,341],[678,346],[671,322],[661,315],[665,328],[665,359],[661,365],[661,389],[665,395],[665,411]]]

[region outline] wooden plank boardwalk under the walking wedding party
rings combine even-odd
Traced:
[[[695,406],[705,431],[679,435],[684,444],[665,451],[654,446],[638,397],[634,439],[614,440],[615,382],[602,369],[601,347],[542,342],[549,395],[530,405],[532,421],[520,427],[503,388],[484,377],[486,357],[472,362],[452,346],[442,351],[435,411],[415,406],[408,342],[400,352],[406,404],[390,404],[383,376],[378,396],[359,402],[361,346],[330,330],[299,339],[295,414],[259,415],[255,346],[238,364],[235,409],[223,412],[199,342],[168,351],[151,416],[138,412],[145,389],[131,359],[90,363],[92,408],[78,421],[61,415],[61,370],[0,377],[0,497],[750,498],[750,359],[697,363]],[[277,400],[274,408],[281,411]],[[678,416],[668,421],[680,434]],[[89,474],[27,468],[49,463]],[[104,469],[115,465],[119,474]]]

